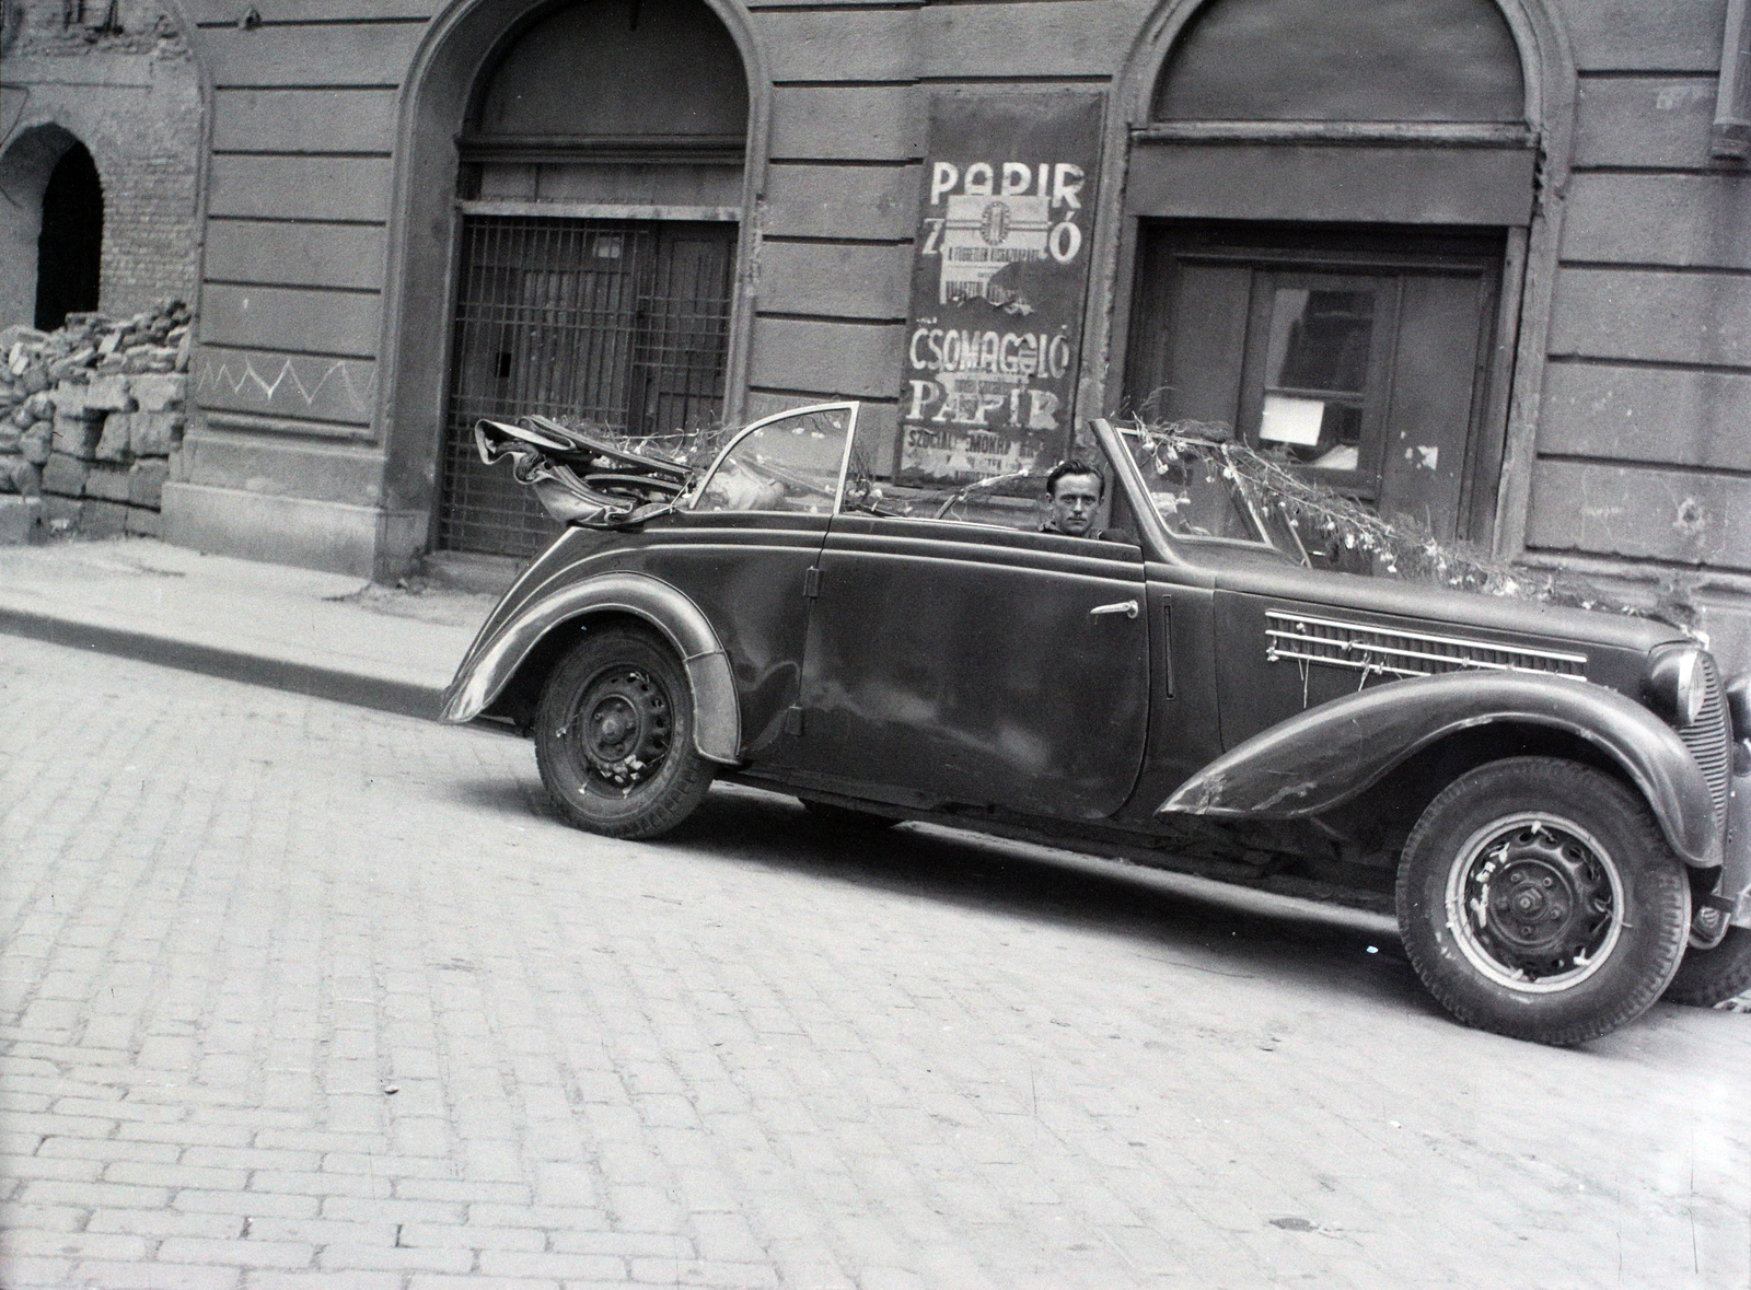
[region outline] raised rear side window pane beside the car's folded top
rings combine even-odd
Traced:
[[[693,509],[832,513],[847,418],[847,410],[832,408],[742,436],[718,462]]]

